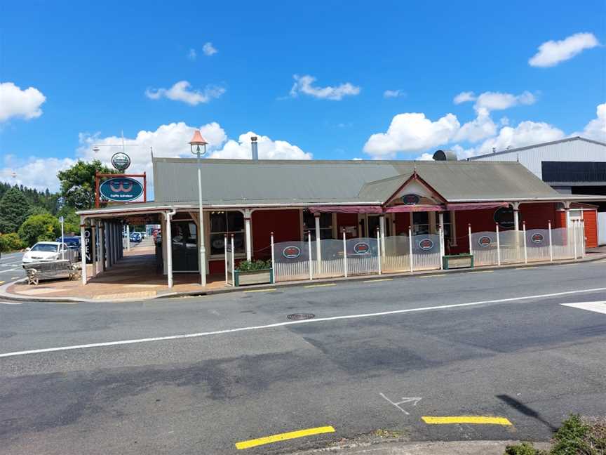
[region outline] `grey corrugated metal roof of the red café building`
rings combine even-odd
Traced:
[[[380,204],[415,169],[447,201],[559,195],[515,162],[204,159],[201,169],[210,205]],[[154,158],[154,192],[156,202],[196,202],[196,159]]]

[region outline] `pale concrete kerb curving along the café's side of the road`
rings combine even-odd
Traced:
[[[504,270],[504,269],[520,269],[520,268],[535,268],[535,267],[546,267],[548,265],[565,265],[575,263],[588,263],[600,261],[606,258],[606,254],[600,254],[595,257],[586,257],[583,259],[577,259],[576,261],[554,261],[554,262],[532,262],[532,263],[516,263],[516,264],[505,264],[505,265],[490,265],[484,267],[476,267],[473,269],[453,269],[453,270],[427,270],[422,272],[395,272],[395,273],[382,273],[382,275],[356,275],[355,277],[335,277],[335,278],[324,278],[310,280],[299,280],[292,282],[281,282],[274,284],[255,284],[252,286],[242,287],[226,287],[223,289],[208,289],[200,291],[161,291],[160,294],[149,297],[149,298],[120,298],[106,301],[100,301],[92,298],[75,298],[75,297],[36,297],[36,296],[18,296],[15,294],[9,294],[6,289],[15,283],[25,282],[25,279],[18,279],[13,282],[8,282],[0,286],[0,299],[11,302],[29,302],[29,303],[128,303],[128,302],[141,302],[146,300],[155,300],[160,298],[180,298],[180,297],[197,297],[197,296],[212,296],[215,294],[227,294],[228,292],[245,292],[245,291],[263,291],[264,289],[279,289],[289,288],[296,286],[309,286],[311,284],[337,284],[342,282],[360,282],[360,281],[372,281],[373,279],[405,279],[414,278],[419,276],[431,277],[431,275],[445,275],[445,274],[461,274],[469,273],[474,271],[489,271],[489,270]]]

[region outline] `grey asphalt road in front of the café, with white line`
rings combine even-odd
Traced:
[[[0,304],[0,453],[231,454],[236,442],[321,426],[335,433],[242,452],[377,429],[546,440],[570,412],[606,415],[606,314],[562,305],[606,301],[605,261],[376,279]],[[316,317],[288,324],[292,313]],[[512,425],[422,420],[469,415]]]

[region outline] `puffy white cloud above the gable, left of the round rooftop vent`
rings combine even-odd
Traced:
[[[375,159],[393,157],[397,152],[416,152],[447,143],[459,131],[459,121],[454,114],[446,114],[431,121],[425,114],[406,112],[391,120],[386,133],[376,133],[368,138],[364,152]]]

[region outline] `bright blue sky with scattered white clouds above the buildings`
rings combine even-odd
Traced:
[[[56,189],[121,130],[135,171],[202,126],[215,157],[250,131],[314,159],[606,138],[603,1],[80,3],[1,2],[0,180]]]

